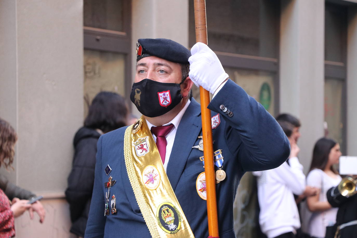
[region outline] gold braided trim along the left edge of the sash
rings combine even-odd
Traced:
[[[127,127],[124,134],[124,159],[126,171],[128,173],[131,187],[134,190],[136,202],[139,205],[142,216],[144,217],[147,228],[149,228],[152,238],[160,238],[157,230],[156,220],[152,219],[151,209],[145,201],[144,193],[141,190],[140,181],[137,179],[134,162],[131,159],[131,131],[132,125]]]

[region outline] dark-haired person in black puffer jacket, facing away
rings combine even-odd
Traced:
[[[68,177],[66,199],[70,204],[71,233],[84,237],[94,184],[97,141],[107,132],[126,126],[128,108],[122,96],[100,92],[89,107],[88,116],[74,137],[74,159]]]

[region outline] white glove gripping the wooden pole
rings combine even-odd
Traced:
[[[197,87],[214,93],[223,81],[228,78],[217,55],[202,42],[197,42],[191,48],[190,72],[188,76]]]

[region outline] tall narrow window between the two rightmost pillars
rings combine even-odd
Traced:
[[[328,137],[346,151],[347,6],[325,5],[325,121]]]

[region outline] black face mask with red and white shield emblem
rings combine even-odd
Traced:
[[[164,115],[181,102],[179,83],[160,83],[144,79],[133,83],[130,100],[147,117]]]

